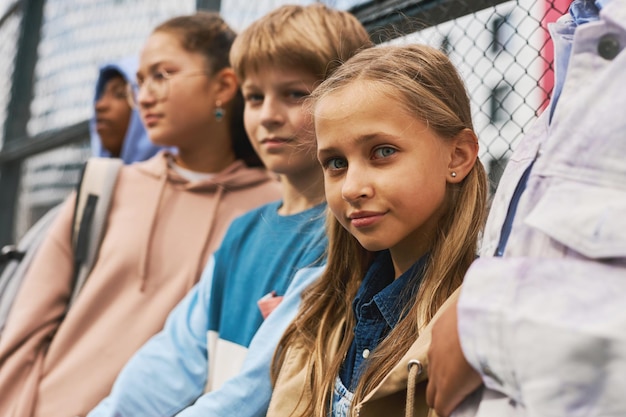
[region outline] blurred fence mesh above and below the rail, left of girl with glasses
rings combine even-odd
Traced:
[[[48,0],[27,130],[36,135],[88,119],[105,62],[136,54],[161,21],[192,13],[194,0]],[[16,235],[74,188],[90,156],[89,138],[27,158],[17,199]]]

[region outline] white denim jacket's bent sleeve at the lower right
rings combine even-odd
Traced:
[[[625,415],[625,297],[623,260],[479,259],[458,305],[463,352],[529,412]]]

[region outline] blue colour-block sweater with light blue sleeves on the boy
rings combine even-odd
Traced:
[[[275,344],[297,311],[300,292],[321,272],[327,244],[325,205],[293,216],[279,216],[279,206],[267,204],[233,221],[200,282],[170,313],[164,329],[126,364],[109,397],[89,417],[174,415],[205,387],[219,398],[213,406],[225,407],[213,409],[213,415],[232,415],[239,400],[229,395],[240,393],[228,394],[232,383],[220,388],[234,376],[258,379],[269,392],[267,370]],[[288,294],[267,319],[276,324],[264,326],[263,338],[255,342],[258,353],[246,358],[263,323],[257,301],[271,291]],[[265,396],[259,399],[268,401]],[[194,408],[183,414],[196,415]]]

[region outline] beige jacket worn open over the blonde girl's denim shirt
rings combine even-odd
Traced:
[[[414,371],[415,396],[413,416],[436,417],[433,410],[426,405],[426,383],[428,380],[428,347],[430,346],[432,325],[459,295],[457,289],[441,306],[435,317],[420,332],[415,343],[408,350],[402,360],[392,369],[385,379],[372,392],[368,393],[358,405],[358,417],[404,417],[407,403],[407,382],[409,378],[409,362],[417,360],[421,364],[422,371]],[[342,326],[338,326],[341,329]],[[333,345],[339,345],[340,331],[334,335]],[[332,354],[332,352],[330,353]],[[419,365],[415,365],[418,366]],[[285,363],[280,370],[272,399],[270,401],[268,417],[287,417],[301,415],[303,405],[310,397],[307,378],[311,366],[308,356],[297,348],[290,349],[285,358]]]

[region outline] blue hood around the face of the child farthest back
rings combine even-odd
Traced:
[[[126,82],[133,82],[135,74],[137,73],[137,67],[139,60],[136,56],[126,57],[120,61],[105,64],[100,68],[98,75],[98,81],[96,82],[96,90],[94,94],[94,100],[92,109],[95,108],[96,101],[100,98],[102,90],[106,82],[115,75],[121,75]],[[93,111],[93,110],[92,110]],[[102,147],[100,136],[96,131],[96,115],[93,111],[93,115],[89,120],[89,133],[91,136],[91,153],[93,156],[110,158],[111,153]],[[159,146],[150,142],[146,129],[141,122],[139,112],[135,109],[132,110],[130,116],[130,122],[128,123],[128,129],[126,130],[126,136],[124,137],[124,144],[122,145],[122,152],[120,153],[120,159],[125,164],[133,162],[143,161],[154,154],[160,149]]]

